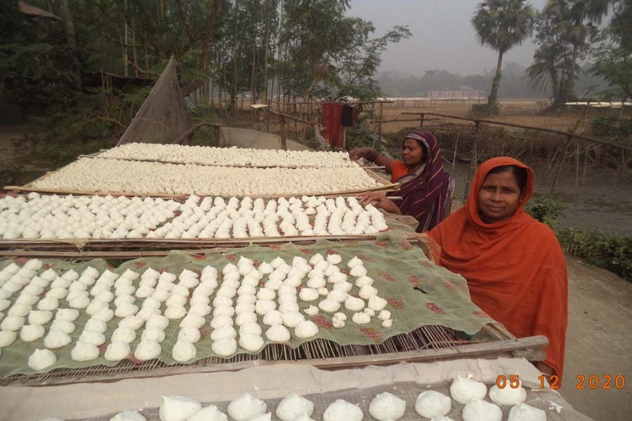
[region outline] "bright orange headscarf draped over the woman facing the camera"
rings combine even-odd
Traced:
[[[525,168],[527,185],[512,218],[486,224],[478,213],[478,194],[487,173],[499,166]],[[430,236],[441,246],[440,265],[468,281],[470,296],[489,316],[518,338],[545,335],[548,366],[561,377],[567,326],[566,260],[555,233],[525,213],[534,175],[508,157],[489,159],[476,172],[472,193]]]

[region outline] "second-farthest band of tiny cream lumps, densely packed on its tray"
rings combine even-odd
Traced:
[[[364,192],[378,182],[360,167],[238,168],[81,158],[32,184],[37,189],[230,197]]]

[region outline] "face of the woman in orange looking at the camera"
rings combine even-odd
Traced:
[[[478,193],[478,211],[484,222],[508,220],[520,206],[522,193],[511,171],[488,174]]]

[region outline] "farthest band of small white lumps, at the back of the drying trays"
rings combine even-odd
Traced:
[[[281,149],[249,149],[128,143],[108,149],[100,158],[136,159],[177,163],[204,163],[218,166],[275,166],[337,168],[357,163],[346,152],[284,151]]]

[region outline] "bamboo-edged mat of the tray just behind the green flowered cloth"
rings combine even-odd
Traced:
[[[179,215],[179,213],[178,213]],[[166,222],[173,222],[173,218]],[[313,221],[313,218],[310,218]],[[384,220],[388,229],[382,233],[397,231],[402,234],[414,234],[419,221],[408,215],[395,215],[393,213],[385,213]],[[162,227],[164,224],[158,225]],[[0,239],[0,250],[28,248],[29,250],[100,250],[104,248],[143,248],[144,250],[152,248],[211,248],[211,247],[235,247],[247,246],[254,244],[270,244],[270,243],[288,243],[297,241],[357,241],[366,239],[376,239],[379,234],[362,234],[362,235],[345,235],[345,236],[280,236],[280,237],[248,237],[248,238],[197,238],[197,239]]]

